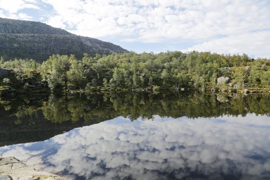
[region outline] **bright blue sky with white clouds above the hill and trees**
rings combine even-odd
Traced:
[[[0,0],[0,17],[39,21],[138,53],[270,58],[270,0]]]

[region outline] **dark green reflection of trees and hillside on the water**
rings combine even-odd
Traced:
[[[215,95],[160,92],[121,94],[82,94],[67,97],[51,95],[22,97],[0,103],[0,146],[49,139],[63,131],[99,123],[118,116],[136,120],[155,115],[173,118],[187,116],[269,116],[268,95]]]

